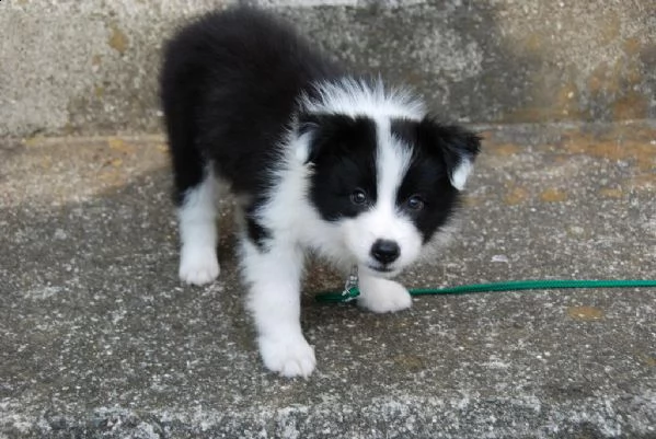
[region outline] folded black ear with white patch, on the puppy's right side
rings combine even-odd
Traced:
[[[458,190],[464,189],[481,151],[481,137],[457,125],[440,125],[426,117],[419,123],[419,138],[438,148],[451,185]]]

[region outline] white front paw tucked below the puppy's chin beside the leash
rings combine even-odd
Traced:
[[[371,312],[395,312],[410,308],[412,297],[401,284],[387,279],[362,279],[358,305]]]

